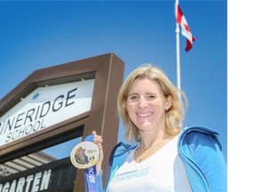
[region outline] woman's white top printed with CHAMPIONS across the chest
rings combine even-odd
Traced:
[[[109,182],[108,192],[190,192],[192,191],[178,155],[178,136],[141,163],[134,150]]]

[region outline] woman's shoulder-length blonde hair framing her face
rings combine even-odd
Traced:
[[[156,81],[160,85],[164,97],[167,98],[169,95],[172,97],[172,107],[165,111],[165,132],[169,135],[177,135],[180,133],[182,121],[185,116],[185,107],[187,107],[188,99],[185,92],[179,90],[170,79],[166,76],[161,68],[157,68],[152,64],[143,64],[138,68],[135,68],[132,73],[127,76],[126,80],[122,84],[120,91],[117,96],[117,113],[122,118],[124,128],[126,128],[125,137],[130,141],[138,142],[140,140],[140,133],[135,124],[132,123],[125,103],[130,92],[132,83],[137,78],[148,78]],[[186,106],[184,107],[183,101],[185,100]]]

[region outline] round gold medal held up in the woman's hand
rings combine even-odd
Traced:
[[[70,159],[78,169],[87,169],[97,164],[100,156],[98,145],[91,141],[83,141],[73,148]]]

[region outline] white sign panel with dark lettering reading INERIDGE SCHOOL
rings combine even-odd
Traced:
[[[94,79],[39,87],[0,116],[0,146],[91,108]]]

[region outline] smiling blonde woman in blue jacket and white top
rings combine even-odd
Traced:
[[[227,191],[218,133],[200,126],[182,129],[181,96],[187,103],[185,93],[152,65],[142,65],[127,77],[118,93],[117,112],[127,139],[138,145],[121,142],[113,149],[105,191]],[[102,138],[92,134],[100,148],[100,180]]]

